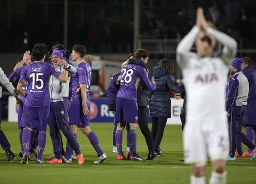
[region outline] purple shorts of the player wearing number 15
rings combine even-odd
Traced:
[[[22,119],[24,119],[24,127],[36,129],[38,131],[46,131],[49,121],[49,105],[43,108],[32,106],[23,107]]]

